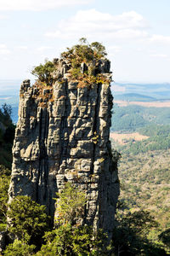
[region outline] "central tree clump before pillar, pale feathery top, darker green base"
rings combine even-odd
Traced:
[[[45,234],[46,244],[42,245],[37,256],[107,255],[104,254],[106,235],[103,231],[94,232],[93,227],[80,223],[86,203],[85,194],[75,185],[66,183],[63,192],[57,195],[57,225]]]

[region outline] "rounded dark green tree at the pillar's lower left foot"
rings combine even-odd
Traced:
[[[9,232],[24,243],[38,244],[48,227],[46,207],[26,195],[16,196],[9,204],[8,218]]]

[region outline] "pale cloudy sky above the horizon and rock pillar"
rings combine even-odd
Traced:
[[[87,38],[105,45],[114,81],[170,83],[170,0],[0,0],[0,79]]]

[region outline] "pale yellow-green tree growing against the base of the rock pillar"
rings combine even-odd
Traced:
[[[56,224],[76,224],[81,221],[86,204],[86,195],[73,184],[66,183],[62,193],[57,193]]]

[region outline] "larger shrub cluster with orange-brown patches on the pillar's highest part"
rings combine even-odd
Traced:
[[[61,54],[61,57],[71,62],[70,75],[77,81],[78,87],[91,87],[93,84],[108,84],[111,79],[100,74],[97,68],[98,61],[105,57],[105,46],[99,42],[88,44],[86,38],[79,40],[80,44],[67,48],[67,51]],[[82,63],[84,67],[82,70]]]

